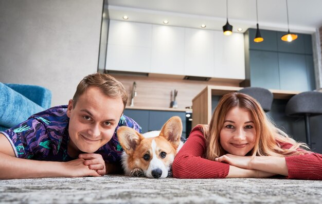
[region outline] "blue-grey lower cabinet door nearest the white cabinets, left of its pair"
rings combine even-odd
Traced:
[[[277,52],[249,50],[251,86],[280,89]]]

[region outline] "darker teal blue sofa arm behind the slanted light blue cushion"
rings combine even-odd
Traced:
[[[41,107],[47,109],[51,104],[51,91],[47,88],[27,84],[5,84]]]

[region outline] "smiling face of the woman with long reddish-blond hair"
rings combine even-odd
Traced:
[[[231,108],[220,131],[220,144],[229,154],[245,156],[255,146],[255,124],[247,110]]]

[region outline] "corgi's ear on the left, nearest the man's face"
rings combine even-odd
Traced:
[[[122,126],[117,130],[117,138],[123,150],[128,154],[132,154],[137,145],[144,138],[135,129],[127,126]]]

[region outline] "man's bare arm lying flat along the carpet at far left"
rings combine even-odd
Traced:
[[[54,162],[16,158],[10,142],[0,133],[0,179],[100,176],[83,163],[84,159]]]

